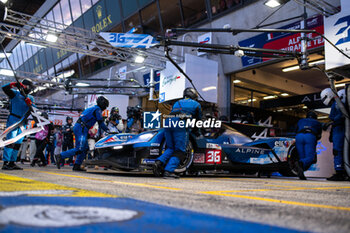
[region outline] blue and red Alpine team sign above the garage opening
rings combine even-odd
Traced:
[[[307,28],[311,30],[316,30],[319,33],[324,33],[323,27],[323,16],[317,15],[312,18],[307,19]],[[281,27],[280,29],[301,29],[301,22],[295,22],[289,24],[287,26]],[[307,33],[306,36],[308,38],[315,38],[318,35],[315,33]],[[301,35],[300,33],[262,33],[260,35],[254,36],[252,38],[242,40],[238,42],[239,46],[242,47],[251,47],[251,48],[264,48],[264,49],[278,49],[278,50],[287,50],[287,51],[300,51],[301,43],[300,43]],[[310,40],[307,42],[307,48],[319,48],[324,45],[323,38],[318,38],[316,40]],[[243,56],[242,58],[242,66],[251,66],[255,64],[259,64],[271,58],[252,58]]]

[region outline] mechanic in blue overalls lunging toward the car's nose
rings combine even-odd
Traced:
[[[81,168],[87,151],[89,150],[88,146],[88,132],[89,129],[98,122],[100,128],[108,132],[108,128],[103,122],[102,111],[104,111],[109,105],[108,99],[103,96],[97,98],[97,105],[85,109],[85,111],[80,115],[79,119],[73,127],[75,135],[75,148],[62,152],[61,154],[55,155],[56,166],[58,169],[61,168],[60,161],[61,159],[71,158],[74,155],[77,155],[75,160],[73,171],[85,171]]]

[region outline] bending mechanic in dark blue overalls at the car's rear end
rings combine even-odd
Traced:
[[[316,161],[317,140],[321,138],[322,124],[317,121],[314,111],[309,111],[306,118],[300,119],[297,125],[296,147],[299,154],[299,161],[295,167],[301,180],[306,180],[304,171]]]

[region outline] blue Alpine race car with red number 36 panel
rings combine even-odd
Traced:
[[[223,125],[205,136],[190,135],[187,156],[175,170],[225,170],[231,172],[280,172],[296,174],[297,152],[293,138],[273,137],[252,141],[229,126]],[[151,170],[155,159],[166,148],[164,129],[141,134],[114,134],[95,145],[95,159],[86,165],[104,166],[123,171]]]

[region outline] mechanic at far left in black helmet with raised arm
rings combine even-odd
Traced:
[[[20,91],[14,89],[15,87],[19,89],[21,88],[20,86],[23,88],[27,97],[23,96]],[[21,83],[12,82],[2,86],[2,90],[10,98],[10,115],[7,118],[6,127],[18,122],[29,110],[29,106],[34,102],[33,96],[29,95],[33,88],[33,83],[29,79],[24,79]],[[20,133],[21,130],[17,128],[8,133],[6,138],[14,138]],[[5,146],[3,156],[4,164],[2,167],[3,170],[22,170],[22,168],[15,164],[22,140],[23,138],[13,144]]]

